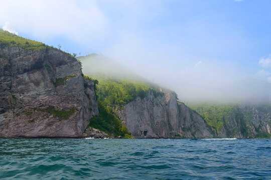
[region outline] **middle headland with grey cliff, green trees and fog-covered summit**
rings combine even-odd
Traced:
[[[177,102],[175,92],[161,89],[105,56],[90,54],[78,59],[84,74],[99,80],[99,100],[116,112],[133,137],[213,137],[197,112]]]

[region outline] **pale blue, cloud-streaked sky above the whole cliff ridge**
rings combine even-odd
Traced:
[[[187,100],[271,97],[270,0],[0,0],[0,27],[101,53]]]

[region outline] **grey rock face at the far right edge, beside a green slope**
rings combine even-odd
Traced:
[[[236,104],[216,131],[219,137],[268,138],[271,134],[271,106],[256,104]]]

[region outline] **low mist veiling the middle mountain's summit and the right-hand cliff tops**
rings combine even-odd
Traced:
[[[139,80],[146,83],[158,84],[163,87],[175,90],[181,101],[186,103],[212,102],[212,103],[270,103],[271,83],[260,79],[241,79],[229,75],[228,78],[218,80],[213,76],[205,80],[210,74],[203,73],[202,80],[195,76],[172,77],[168,81],[163,80],[163,71],[159,74],[156,69],[150,68],[151,75],[142,73],[141,69],[125,67],[109,57],[100,54],[89,54],[77,57],[82,61],[83,72],[93,78],[113,78]],[[198,64],[200,65],[200,64]],[[144,64],[143,64],[144,66]],[[143,75],[138,75],[138,74]],[[157,75],[156,80],[151,80]],[[161,77],[161,78],[160,78]],[[155,83],[154,83],[155,82]]]

